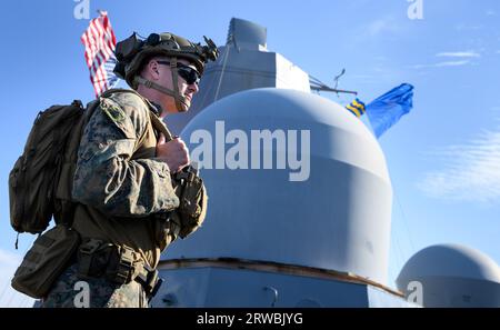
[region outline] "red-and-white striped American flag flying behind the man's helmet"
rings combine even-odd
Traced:
[[[117,38],[106,11],[99,11],[99,17],[91,20],[89,28],[81,34],[81,42],[86,47],[86,61],[90,70],[90,81],[96,97],[113,88],[118,77],[113,73],[117,58],[114,47]]]

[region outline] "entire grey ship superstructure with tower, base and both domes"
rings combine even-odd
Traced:
[[[267,50],[266,33],[232,19],[192,108],[167,119],[202,166],[209,208],[206,224],[162,254],[167,284],[152,306],[416,307],[407,301],[416,279],[423,306],[498,307],[498,266],[463,247],[417,253],[400,291],[386,287],[392,188],[383,152],[360,120],[310,93],[308,73]],[[252,138],[264,131],[267,142]],[[303,159],[307,178],[292,181]]]

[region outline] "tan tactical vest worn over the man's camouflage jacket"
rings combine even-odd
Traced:
[[[102,96],[116,92],[133,93],[148,107],[149,101],[132,90],[110,90]],[[147,129],[139,138],[131,160],[156,157],[157,133],[162,132],[166,140],[172,139],[170,132],[152,111]],[[172,186],[180,200],[179,209],[162,214],[152,214],[148,219],[109,219],[92,206],[77,204],[73,228],[82,238],[93,238],[114,244],[126,244],[139,252],[144,261],[154,268],[163,251],[177,237],[186,238],[197,230],[204,220],[207,192],[201,178],[184,171],[171,173]]]

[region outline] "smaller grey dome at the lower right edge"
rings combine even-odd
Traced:
[[[428,247],[408,260],[398,289],[409,283],[423,289],[423,307],[500,307],[500,268],[484,253],[459,244]]]

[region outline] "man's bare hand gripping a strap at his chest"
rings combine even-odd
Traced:
[[[190,163],[188,147],[180,138],[166,142],[164,136],[161,134],[157,143],[157,157],[163,160],[173,173]]]

